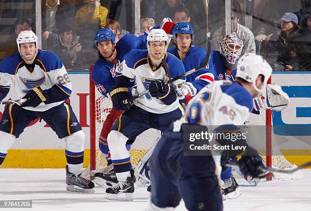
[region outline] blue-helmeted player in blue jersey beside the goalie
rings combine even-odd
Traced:
[[[200,66],[205,58],[206,50],[192,46],[194,30],[189,23],[176,23],[172,29],[176,47],[168,50],[169,53],[179,58],[185,72]],[[205,68],[186,77],[186,82],[179,87],[179,99],[185,104],[197,94],[204,86],[215,80],[215,71],[210,60]]]

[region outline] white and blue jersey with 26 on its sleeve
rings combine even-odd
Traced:
[[[13,88],[12,99],[20,99],[32,88],[40,86],[48,91],[48,100],[38,107],[23,107],[31,111],[47,111],[69,98],[72,84],[60,58],[49,51],[38,50],[33,65],[26,64],[19,53],[0,63],[0,98]]]

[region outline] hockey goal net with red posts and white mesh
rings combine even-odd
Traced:
[[[107,166],[104,155],[98,148],[98,138],[109,111],[112,108],[112,102],[104,97],[95,87],[94,82],[90,79],[90,170],[103,168]],[[245,121],[246,126],[266,125],[266,130],[251,131],[247,135],[248,145],[259,151],[267,166],[281,169],[291,169],[296,165],[290,163],[279,150],[273,134],[272,115],[270,110],[261,111],[260,115],[251,114]],[[133,168],[137,165],[143,155],[157,142],[161,132],[155,129],[149,129],[137,136],[134,144],[131,146],[130,156]],[[252,140],[265,140],[256,142]],[[290,180],[303,178],[302,171],[293,174],[277,173],[273,179]],[[267,180],[272,180],[271,173],[268,174]]]

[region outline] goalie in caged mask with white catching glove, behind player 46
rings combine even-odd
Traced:
[[[220,80],[234,81],[242,49],[242,40],[236,33],[231,33],[220,43],[220,51],[213,51],[211,60]],[[277,85],[267,85],[266,90],[262,94],[262,96],[254,98],[254,110],[252,111],[254,114],[259,114],[259,110],[264,109],[282,110],[289,103],[288,95]],[[222,172],[221,179],[225,184],[223,191],[224,199],[233,199],[241,195],[231,167]]]

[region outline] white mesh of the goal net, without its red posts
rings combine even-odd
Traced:
[[[96,168],[102,168],[107,166],[107,161],[104,155],[100,152],[98,148],[98,138],[109,111],[112,108],[112,102],[107,97],[101,95],[97,89],[95,89],[95,99],[96,99]],[[245,125],[266,125],[266,115],[265,112],[261,112],[260,115],[251,114],[250,117],[245,121]],[[157,139],[161,136],[161,131],[155,129],[149,129],[137,136],[134,144],[131,146],[130,156],[131,163],[133,167],[137,165],[140,158],[153,146]],[[266,162],[266,142],[252,142],[252,140],[266,139],[265,130],[251,130],[251,133],[247,135],[247,143],[251,147],[254,147],[262,155],[263,160]],[[272,167],[281,169],[291,169],[296,167],[296,165],[290,163],[279,150],[275,137],[271,135],[271,146],[272,146]],[[294,174],[274,174],[274,179],[301,179],[303,178],[302,171],[297,171]]]

